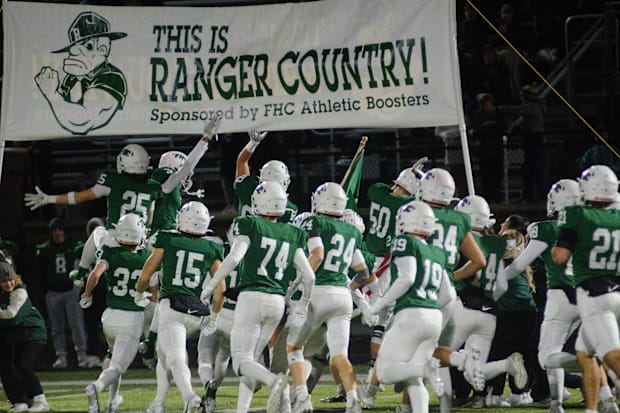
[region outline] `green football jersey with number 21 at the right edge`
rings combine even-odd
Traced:
[[[577,234],[572,256],[575,285],[620,273],[620,211],[570,206],[560,211],[558,227]]]

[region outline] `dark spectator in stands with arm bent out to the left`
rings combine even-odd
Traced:
[[[523,141],[522,166],[523,200],[542,199],[550,183],[549,155],[545,132],[545,102],[538,96],[538,84],[526,84],[521,88],[520,105],[498,105],[497,110],[512,116],[508,135],[519,135]]]

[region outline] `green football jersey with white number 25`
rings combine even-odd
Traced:
[[[148,225],[153,203],[163,195],[158,182],[138,182],[131,176],[113,171],[99,175],[97,184],[110,188],[107,197],[107,228],[114,228],[120,217],[130,212],[143,217]]]

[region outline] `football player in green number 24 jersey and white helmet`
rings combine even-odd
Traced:
[[[296,387],[293,413],[312,411],[303,347],[323,323],[327,325],[330,363],[337,370],[346,392],[346,412],[361,412],[355,371],[348,357],[353,311],[348,274],[352,268],[354,279],[361,285],[370,273],[361,251],[362,234],[340,219],[346,204],[347,196],[339,184],[321,184],[312,194],[313,215],[302,223],[309,237],[308,261],[316,280],[308,318],[301,325],[292,325],[287,337],[289,368]]]

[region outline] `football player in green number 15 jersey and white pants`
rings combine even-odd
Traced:
[[[222,245],[205,238],[210,222],[209,210],[203,203],[192,201],[183,205],[177,231],[158,234],[136,286],[136,303],[144,302],[146,285],[161,265],[158,363],[172,375],[183,397],[184,413],[201,410],[201,399],[192,389],[191,373],[185,362],[186,340],[200,329],[202,317],[210,314],[200,294],[206,274],[215,274],[224,256]],[[161,402],[155,400],[152,405]]]

